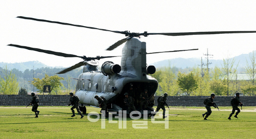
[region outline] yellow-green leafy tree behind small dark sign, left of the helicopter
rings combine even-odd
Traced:
[[[43,86],[50,86],[51,93],[53,91],[57,95],[58,90],[60,89],[61,86],[63,86],[63,84],[61,83],[61,80],[64,80],[64,78],[59,77],[57,75],[49,77],[47,74],[45,74],[44,78],[42,78],[41,80],[39,78],[34,78],[34,81],[29,81],[29,82],[34,87],[36,87],[40,93],[43,93]]]

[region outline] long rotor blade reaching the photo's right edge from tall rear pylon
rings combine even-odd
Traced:
[[[233,34],[233,33],[256,33],[256,31],[210,31],[210,32],[178,32],[178,33],[141,33],[140,35],[185,36],[185,35]]]

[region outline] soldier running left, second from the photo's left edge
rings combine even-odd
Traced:
[[[70,101],[69,101],[69,105],[68,105],[68,106],[73,105],[73,106],[71,107],[71,111],[72,111],[72,113],[73,113],[73,115],[72,115],[71,117],[76,116],[76,115],[75,115],[75,111],[74,111],[74,108],[76,108],[78,114],[80,114],[80,115],[81,115],[81,118],[83,118],[84,115],[81,113],[81,111],[80,111],[79,108],[78,108],[78,106],[79,106],[79,98],[78,98],[78,96],[74,96],[73,93],[69,93],[69,95],[70,95]]]

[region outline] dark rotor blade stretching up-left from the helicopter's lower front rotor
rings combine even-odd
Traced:
[[[63,57],[80,57],[80,58],[84,58],[83,56],[77,56],[77,55],[74,55],[74,54],[67,54],[67,53],[62,53],[62,52],[43,50],[43,49],[39,49],[39,48],[32,48],[32,47],[21,46],[21,45],[16,45],[16,44],[9,44],[9,46],[14,46],[14,47],[18,47],[18,48],[24,48],[24,49],[28,49],[28,50],[33,50],[33,51],[43,52],[43,53],[47,53],[47,54],[63,56]]]

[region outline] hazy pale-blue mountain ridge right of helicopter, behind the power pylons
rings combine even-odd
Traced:
[[[232,57],[233,58],[233,57]],[[238,72],[243,71],[245,67],[247,66],[246,59],[248,60],[248,63],[250,63],[249,54],[241,54],[234,57],[235,63],[234,67],[238,64]],[[202,63],[204,64],[204,68],[206,68],[207,60],[204,58],[202,60]],[[209,58],[209,68],[222,67],[223,65],[223,59],[222,60],[215,60]],[[151,63],[150,65],[154,65],[156,68],[163,67],[163,66],[176,66],[178,68],[187,68],[187,67],[201,67],[201,59],[200,58],[174,58],[174,59],[167,59],[158,61],[155,63]]]

